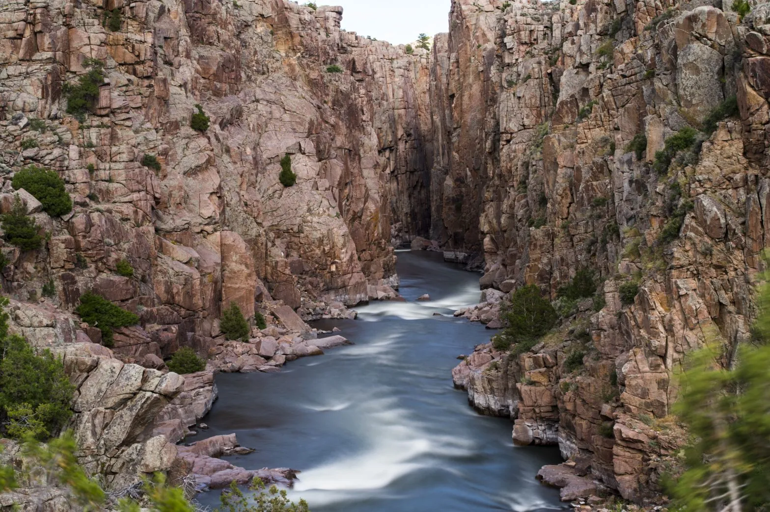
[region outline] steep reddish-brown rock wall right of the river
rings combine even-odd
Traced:
[[[684,436],[671,404],[685,354],[715,337],[728,359],[751,337],[770,244],[766,12],[457,0],[448,67],[434,58],[454,150],[440,209],[450,239],[470,234],[463,215],[479,211],[466,247],[484,251],[482,287],[537,284],[555,300],[578,269],[601,282],[532,351],[477,347],[455,384],[481,411],[510,415],[514,441],[558,444],[578,474],[629,500],[658,500],[661,473],[675,469]],[[738,115],[668,168],[654,165],[667,138],[705,130],[736,95]],[[473,146],[485,151],[460,149]],[[458,214],[450,194],[462,198]],[[632,301],[623,284],[638,284]],[[497,310],[457,314],[490,321]]]

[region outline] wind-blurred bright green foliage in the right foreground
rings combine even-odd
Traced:
[[[687,510],[765,510],[770,503],[770,288],[755,324],[762,341],[731,354],[718,333],[687,354],[675,414],[687,425],[683,474],[671,485]],[[727,353],[725,353],[725,347]]]

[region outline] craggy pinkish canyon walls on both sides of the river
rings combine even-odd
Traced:
[[[537,284],[556,301],[577,271],[595,272],[597,296],[540,344],[482,344],[454,382],[510,417],[518,444],[558,445],[568,462],[553,471],[588,487],[581,497],[663,503],[685,438],[675,373],[709,337],[735,354],[757,314],[770,7],[453,0],[449,32],[411,52],[341,30],[342,14],[286,0],[0,5],[0,211],[28,165],[56,171],[75,203],[52,217],[22,194],[45,243],[4,242],[3,293],[12,331],[61,354],[78,388],[79,460],[112,489],[158,470],[233,470],[176,446],[209,411],[215,371],[323,351],[305,321],[397,298],[395,248],[412,244],[483,269],[482,304],[458,315],[490,327],[511,291]],[[79,119],[67,85],[93,59],[104,79]],[[729,101],[735,115],[705,128]],[[205,131],[190,126],[197,105]],[[701,130],[697,151],[661,168],[685,127]],[[139,325],[102,346],[73,312],[88,291]],[[248,343],[224,340],[232,303],[267,320]],[[206,371],[167,372],[179,347],[210,357]],[[42,489],[25,510],[63,506]]]

